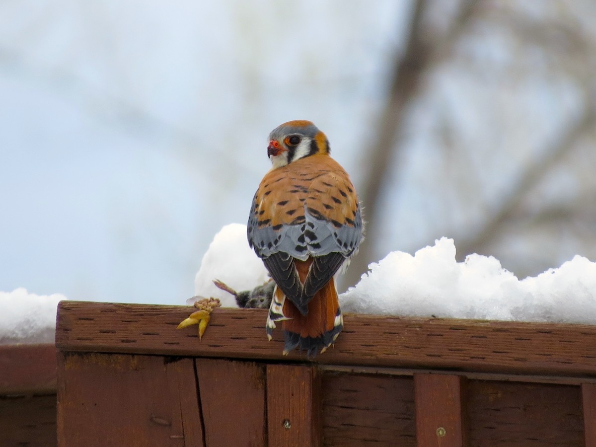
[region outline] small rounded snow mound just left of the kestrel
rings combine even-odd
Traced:
[[[229,224],[215,235],[194,279],[196,295],[219,298],[222,306],[237,308],[234,296],[215,287],[216,279],[236,291],[250,290],[269,280],[262,260],[249,247],[246,225]]]

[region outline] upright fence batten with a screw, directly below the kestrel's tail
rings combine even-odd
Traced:
[[[322,446],[321,376],[316,367],[267,365],[271,446]]]

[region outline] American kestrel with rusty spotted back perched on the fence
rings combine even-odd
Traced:
[[[269,134],[273,167],[250,209],[249,244],[275,281],[266,332],[282,321],[284,354],[324,352],[343,328],[335,275],[363,238],[358,197],[329,142],[310,121]],[[347,265],[347,263],[346,263]]]

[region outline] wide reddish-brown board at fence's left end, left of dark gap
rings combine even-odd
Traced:
[[[57,420],[59,446],[203,445],[193,360],[60,353]]]

